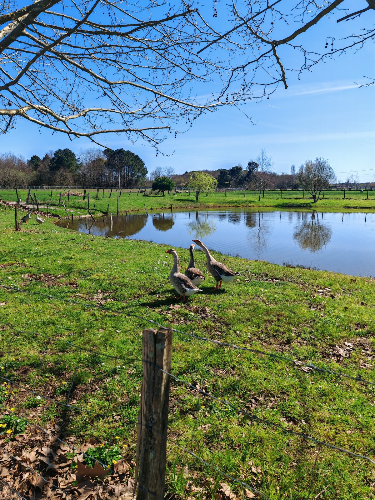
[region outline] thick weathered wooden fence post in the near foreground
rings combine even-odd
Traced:
[[[138,486],[136,500],[164,497],[170,381],[165,371],[170,372],[171,354],[172,330],[143,330],[143,382],[134,481],[134,488]]]

